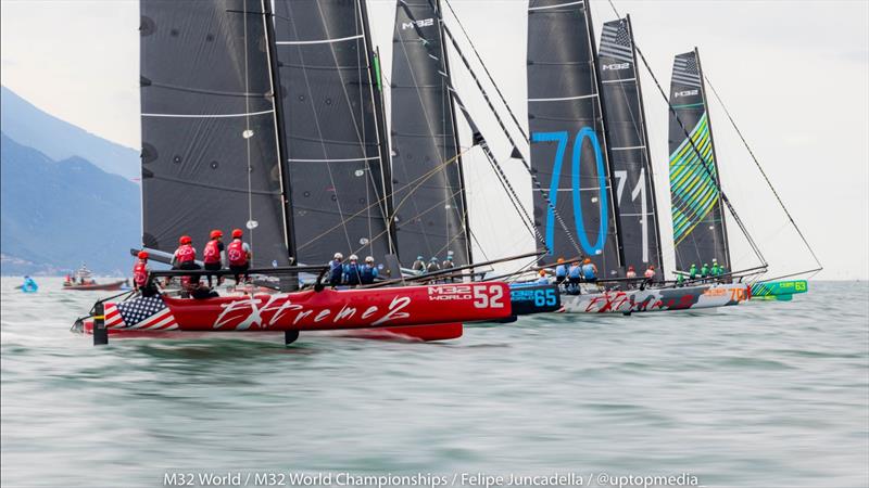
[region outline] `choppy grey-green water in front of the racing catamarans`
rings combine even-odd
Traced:
[[[538,316],[443,344],[289,348],[270,334],[95,348],[68,328],[98,294],[18,283],[2,280],[3,487],[236,472],[287,486],[301,472],[869,485],[867,283],[713,313]]]

